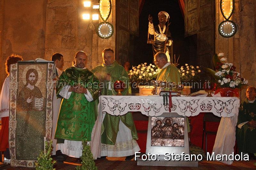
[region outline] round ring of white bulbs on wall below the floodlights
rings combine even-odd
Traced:
[[[114,33],[114,27],[109,22],[101,22],[97,26],[97,35],[100,38],[108,39],[113,35],[113,33]]]

